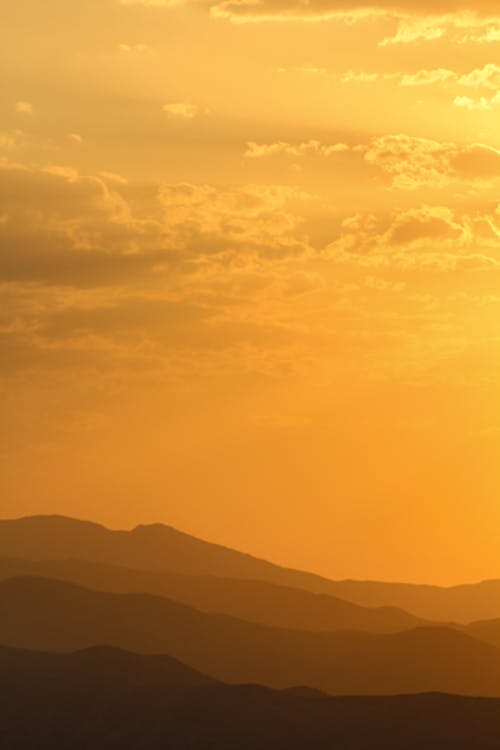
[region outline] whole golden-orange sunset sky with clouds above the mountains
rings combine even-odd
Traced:
[[[0,515],[500,577],[497,0],[1,16]]]

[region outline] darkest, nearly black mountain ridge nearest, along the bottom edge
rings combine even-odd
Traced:
[[[229,686],[106,648],[0,649],[0,674],[9,750],[497,750],[500,737],[498,700]]]

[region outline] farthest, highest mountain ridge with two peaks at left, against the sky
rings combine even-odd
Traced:
[[[396,607],[424,620],[469,623],[500,617],[500,581],[444,588],[377,581],[332,581],[197,539],[170,526],[114,531],[63,516],[0,521],[0,555],[77,558],[140,570],[262,580],[328,594],[362,607]]]

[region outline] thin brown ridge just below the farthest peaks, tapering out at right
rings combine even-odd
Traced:
[[[207,612],[230,614],[273,627],[394,633],[425,624],[396,608],[368,609],[266,581],[130,570],[78,560],[0,559],[0,579],[20,575],[71,581],[99,591],[159,594]]]

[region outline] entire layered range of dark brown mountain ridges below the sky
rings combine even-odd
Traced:
[[[497,748],[496,592],[328,580],[161,524],[0,521],[2,739]]]

